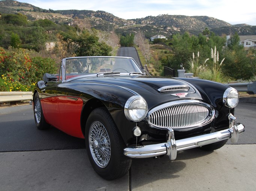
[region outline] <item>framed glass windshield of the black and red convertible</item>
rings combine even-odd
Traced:
[[[66,79],[103,72],[142,73],[135,61],[126,57],[72,57],[63,59],[63,67]]]

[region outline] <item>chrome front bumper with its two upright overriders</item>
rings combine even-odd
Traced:
[[[236,118],[231,113],[228,115],[228,119],[228,129],[182,140],[175,140],[173,129],[168,128],[166,143],[127,147],[124,148],[124,155],[130,158],[149,158],[166,154],[171,160],[175,160],[177,157],[177,151],[201,147],[203,145],[216,143],[229,138],[232,143],[236,143],[238,141],[239,134],[244,132],[244,125],[237,123]]]

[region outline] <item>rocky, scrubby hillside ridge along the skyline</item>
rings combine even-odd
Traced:
[[[115,30],[120,34],[142,31],[147,38],[156,34],[165,36],[189,31],[198,34],[205,28],[217,34],[238,32],[240,35],[256,35],[255,27],[240,24],[231,25],[208,16],[159,15],[139,19],[121,19],[105,11],[92,10],[46,10],[28,3],[13,0],[0,1],[0,13],[22,13],[29,20],[49,19],[56,23],[76,24],[102,30]]]

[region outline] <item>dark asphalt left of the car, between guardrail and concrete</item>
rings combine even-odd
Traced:
[[[69,136],[56,128],[38,130],[35,126],[32,106],[24,110],[0,115],[0,152],[35,151],[85,148],[84,140]]]

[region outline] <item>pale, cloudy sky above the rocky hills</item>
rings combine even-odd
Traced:
[[[232,25],[256,26],[256,0],[18,0],[42,9],[103,10],[122,19],[146,16],[210,16]]]

